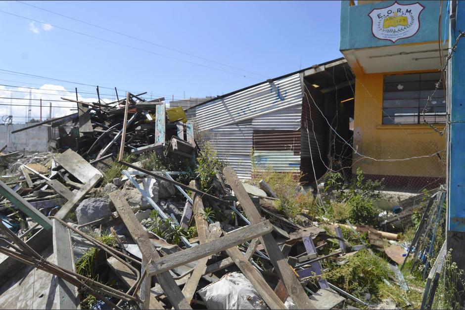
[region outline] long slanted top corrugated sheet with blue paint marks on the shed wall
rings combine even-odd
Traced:
[[[265,82],[195,108],[198,130],[214,129],[301,105],[299,74]]]

